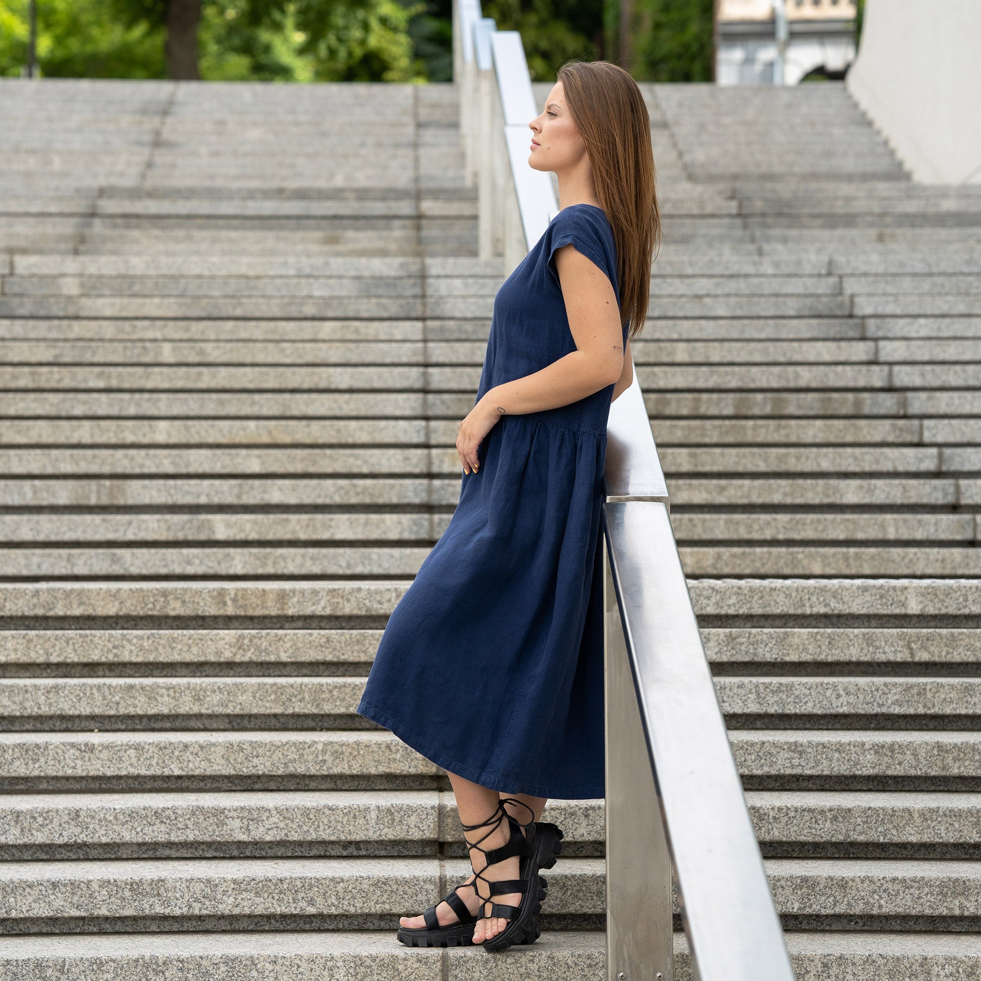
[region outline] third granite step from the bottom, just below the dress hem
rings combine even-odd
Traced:
[[[981,841],[977,794],[749,791],[766,852],[938,852]],[[462,853],[446,791],[18,794],[0,798],[4,860]],[[550,800],[570,853],[601,853],[602,800]],[[595,848],[594,848],[595,847]],[[598,850],[598,851],[597,851]]]

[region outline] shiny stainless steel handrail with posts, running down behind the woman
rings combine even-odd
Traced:
[[[480,254],[510,272],[557,210],[528,165],[537,108],[520,35],[454,0],[453,55]],[[794,971],[668,516],[637,372],[610,406],[603,504],[606,971],[671,981],[672,868],[700,981]]]

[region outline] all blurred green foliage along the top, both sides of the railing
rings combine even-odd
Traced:
[[[37,60],[46,76],[162,78],[166,0],[37,0]],[[710,77],[711,0],[633,0],[634,74]],[[450,0],[202,0],[201,77],[281,81],[448,81]],[[570,58],[610,58],[618,0],[484,0],[502,30],[520,30],[533,77]],[[0,0],[0,75],[20,75],[27,0]]]

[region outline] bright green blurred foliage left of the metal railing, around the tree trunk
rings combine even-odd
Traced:
[[[425,9],[411,0],[203,0],[201,77],[423,81],[410,27]],[[166,77],[164,10],[164,0],[37,0],[41,74]],[[26,43],[27,0],[0,0],[0,74],[21,74]]]

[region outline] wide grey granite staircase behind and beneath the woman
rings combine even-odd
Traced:
[[[353,714],[503,274],[452,87],[0,94],[0,977],[599,981],[601,801],[539,944],[394,942],[466,863]],[[634,357],[798,975],[976,979],[981,193],[835,83],[645,95]]]

